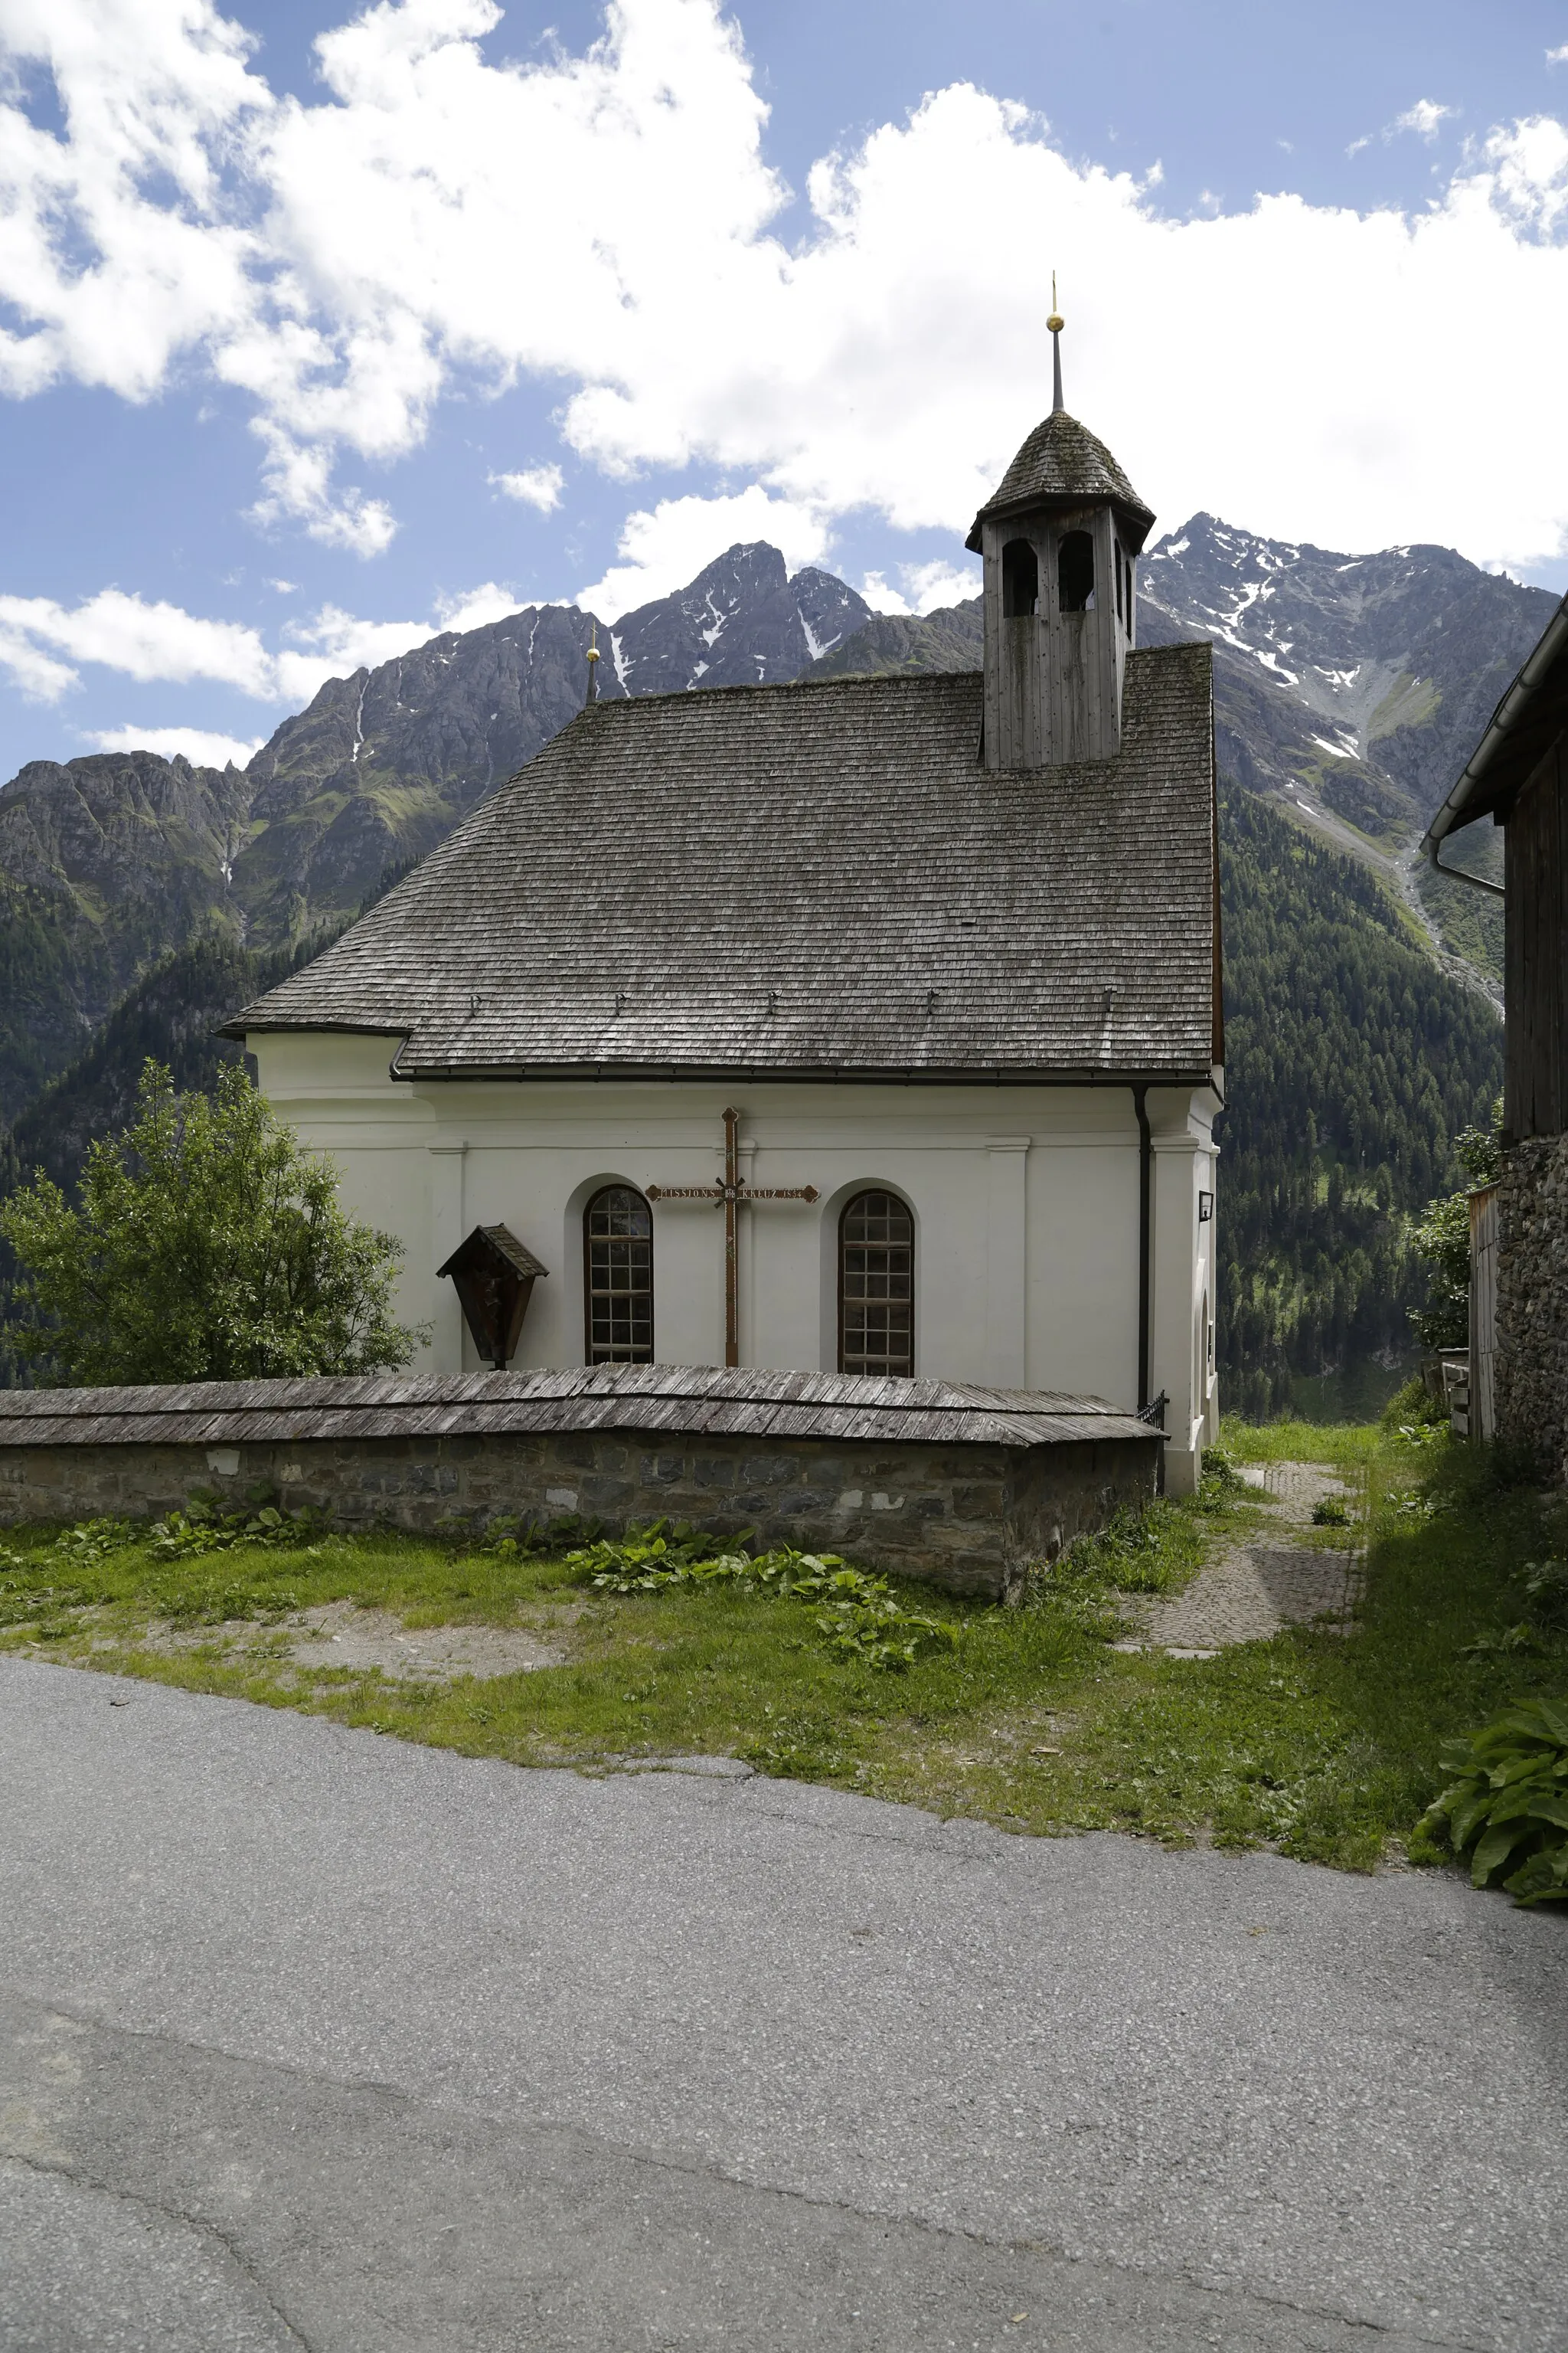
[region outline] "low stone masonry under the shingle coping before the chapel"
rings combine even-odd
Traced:
[[[994,1598],[1119,1506],[1147,1504],[1157,1457],[1152,1433],[1025,1447],[628,1431],[0,1445],[0,1522],[143,1520],[195,1492],[237,1506],[256,1487],[348,1529],[583,1513],[621,1532],[668,1515]]]

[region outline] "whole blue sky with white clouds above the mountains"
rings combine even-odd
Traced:
[[[733,539],[961,593],[1051,268],[1161,527],[1568,586],[1568,0],[0,0],[0,776]]]

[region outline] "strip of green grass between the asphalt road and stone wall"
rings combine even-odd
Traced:
[[[1213,1478],[1074,1546],[1013,1607],[889,1581],[900,1607],[954,1635],[891,1666],[825,1642],[820,1595],[778,1581],[614,1591],[585,1581],[581,1560],[397,1534],[167,1558],[148,1532],[26,1532],[0,1551],[0,1645],[517,1765],[741,1755],[1013,1831],[1269,1845],[1356,1871],[1413,1842],[1434,1861],[1415,1826],[1443,1779],[1441,1746],[1512,1701],[1568,1694],[1561,1506],[1497,1485],[1486,1457],[1441,1431],[1225,1435],[1241,1459],[1352,1475],[1371,1558],[1349,1635],[1288,1628],[1215,1659],[1112,1649],[1119,1595],[1178,1593],[1218,1544],[1269,1529],[1262,1497]],[[1347,1529],[1269,1541],[1342,1546]],[[404,1626],[527,1628],[564,1664],[395,1682],[292,1661],[289,1619],[322,1602]],[[233,1647],[235,1619],[270,1649]],[[155,1621],[212,1640],[158,1652],[143,1642]]]

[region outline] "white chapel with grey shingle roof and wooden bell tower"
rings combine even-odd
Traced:
[[[750,1365],[1215,1431],[1211,656],[1060,402],[985,666],[588,701],[230,1033],[404,1245],[416,1372]]]

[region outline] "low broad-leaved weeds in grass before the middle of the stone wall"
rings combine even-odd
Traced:
[[[750,1532],[748,1532],[750,1534]],[[567,1555],[581,1584],[607,1593],[658,1593],[672,1586],[729,1586],[773,1600],[811,1605],[811,1624],[827,1649],[865,1666],[900,1671],[933,1649],[952,1649],[959,1626],[907,1609],[886,1577],[870,1577],[837,1553],[710,1553],[693,1527],[654,1520],[625,1537],[602,1539]],[[743,1539],[729,1539],[731,1544]]]

